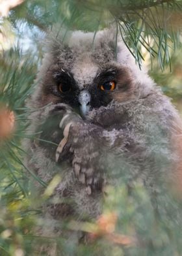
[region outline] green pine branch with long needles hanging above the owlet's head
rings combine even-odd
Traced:
[[[179,44],[182,1],[26,1],[11,14],[11,20],[25,19],[28,24],[46,31],[55,23],[68,29],[95,31],[114,24],[118,33],[141,65],[144,47],[159,66],[171,66],[171,48]]]

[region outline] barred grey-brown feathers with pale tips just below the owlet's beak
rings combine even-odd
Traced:
[[[62,117],[59,127],[63,130],[64,138],[57,148],[56,161],[73,153],[72,167],[79,184],[85,185],[88,195],[101,193],[105,185],[104,166],[98,165],[99,140],[94,130],[78,114],[69,110]]]

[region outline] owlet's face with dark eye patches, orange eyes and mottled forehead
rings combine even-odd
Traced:
[[[86,116],[111,101],[134,97],[132,74],[116,61],[113,43],[101,40],[93,48],[92,40],[86,42],[83,46],[59,45],[49,53],[51,63],[46,64],[40,78],[38,102],[42,105],[66,103]]]

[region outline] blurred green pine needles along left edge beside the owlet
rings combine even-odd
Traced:
[[[0,61],[0,105],[13,110],[16,116],[16,131],[0,141],[0,255],[21,255],[26,244],[24,234],[32,227],[21,139],[25,137],[28,119],[25,99],[32,91],[36,65],[19,49],[2,52]]]

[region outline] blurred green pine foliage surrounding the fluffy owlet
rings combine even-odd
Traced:
[[[153,80],[182,112],[181,8],[182,1],[177,0],[0,0],[0,255],[34,255],[32,230],[41,210],[31,207],[28,181],[29,175],[34,174],[23,164],[26,152],[21,142],[27,136],[29,122],[25,101],[34,89],[46,34],[55,24],[59,29],[94,33],[114,25],[137,65],[148,68]],[[135,248],[130,246],[129,238],[125,241],[114,236],[109,238],[111,248],[108,237],[86,248],[76,248],[66,246],[60,239],[62,255],[96,255],[94,250],[98,248],[102,248],[98,255],[182,255],[182,226],[180,221],[173,221],[174,209],[181,207],[180,200],[161,200],[161,209],[173,205],[168,209],[170,217],[161,220],[161,216],[155,219],[148,194],[140,184],[130,199],[125,184],[121,184],[120,191],[111,190],[109,208],[105,206],[106,223],[116,233],[133,236],[139,232],[146,244]],[[122,193],[122,200],[116,197],[118,193]],[[111,206],[120,212],[118,221]],[[98,225],[102,229],[100,225],[105,225],[105,220],[103,223],[93,223],[92,229]],[[83,225],[81,229],[92,230],[89,227]],[[114,242],[116,238],[118,242]],[[36,240],[50,242],[49,238]]]

